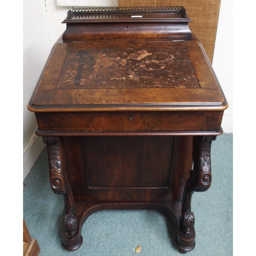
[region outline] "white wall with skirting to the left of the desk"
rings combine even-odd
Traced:
[[[34,91],[55,41],[65,30],[61,24],[68,7],[58,7],[55,0],[23,2],[23,178],[45,147],[41,137],[34,135],[36,120],[27,104]]]

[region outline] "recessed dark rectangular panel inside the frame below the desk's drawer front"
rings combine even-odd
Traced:
[[[84,137],[89,188],[166,188],[173,136]]]

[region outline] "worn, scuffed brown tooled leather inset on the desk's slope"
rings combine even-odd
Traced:
[[[200,88],[185,47],[68,50],[56,89]]]

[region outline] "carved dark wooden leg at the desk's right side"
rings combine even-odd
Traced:
[[[195,136],[193,138],[193,161],[190,178],[184,189],[182,216],[178,227],[177,247],[181,253],[195,247],[195,216],[191,211],[191,197],[194,191],[206,191],[211,184],[210,147],[216,136]]]

